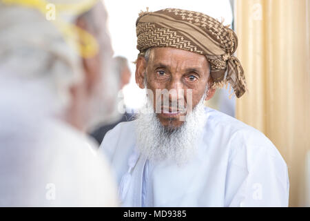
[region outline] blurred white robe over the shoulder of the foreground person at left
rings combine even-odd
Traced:
[[[92,140],[56,119],[42,123],[0,134],[0,206],[117,206]]]

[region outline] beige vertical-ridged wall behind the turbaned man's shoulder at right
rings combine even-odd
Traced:
[[[235,28],[249,88],[236,117],[276,145],[289,168],[289,205],[307,206],[310,1],[236,0]]]

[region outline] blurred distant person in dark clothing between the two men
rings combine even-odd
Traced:
[[[123,88],[127,84],[130,83],[130,77],[132,75],[130,71],[130,67],[128,66],[128,61],[125,57],[122,56],[117,56],[114,57],[112,60],[112,66],[114,70],[114,75],[118,77],[119,81],[119,92],[118,92],[118,97],[116,100],[116,104],[121,104],[121,99],[123,99]],[[124,104],[125,105],[125,104]],[[125,108],[125,106],[124,106]],[[117,110],[117,108],[115,108]],[[125,113],[121,113],[120,111],[116,111],[116,114],[114,116],[110,116],[110,124],[103,124],[103,126],[100,126],[97,128],[94,132],[92,132],[92,137],[96,139],[98,144],[101,144],[103,137],[105,136],[105,133],[107,131],[110,131],[114,126],[116,126],[118,123],[121,122],[127,122],[133,119],[132,113],[127,113],[126,108],[125,108]]]

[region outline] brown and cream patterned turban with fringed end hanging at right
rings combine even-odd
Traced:
[[[205,55],[211,64],[213,88],[223,88],[229,82],[237,97],[247,90],[240,61],[233,56],[238,46],[237,36],[214,18],[175,8],[141,12],[136,21],[136,35],[141,56],[154,47],[196,52]]]

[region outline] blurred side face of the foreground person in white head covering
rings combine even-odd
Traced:
[[[85,21],[80,21],[80,26],[94,36],[99,46],[99,52],[94,57],[83,60],[84,82],[87,88],[87,104],[84,108],[87,106],[87,126],[92,128],[103,123],[107,115],[114,111],[118,85],[109,67],[113,51],[110,36],[107,34],[107,15],[103,3],[97,3],[92,9],[92,14],[88,16],[90,17]]]

